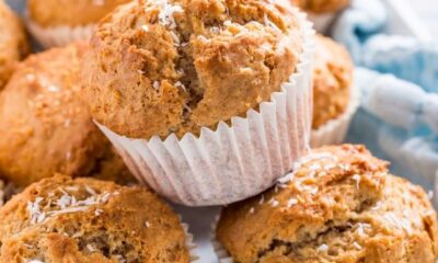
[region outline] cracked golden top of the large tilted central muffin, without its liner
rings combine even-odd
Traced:
[[[265,0],[132,1],[100,22],[83,67],[93,117],[131,138],[199,135],[268,101],[296,70],[298,18]]]

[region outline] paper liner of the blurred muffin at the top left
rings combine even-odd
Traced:
[[[35,39],[45,48],[66,46],[77,41],[88,41],[93,34],[94,24],[83,26],[42,27],[27,19],[27,28]]]

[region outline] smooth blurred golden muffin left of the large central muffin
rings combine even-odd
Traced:
[[[33,55],[0,94],[0,173],[25,186],[56,172],[130,176],[79,99],[85,44]]]

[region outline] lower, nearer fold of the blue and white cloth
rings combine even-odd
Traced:
[[[434,185],[438,170],[438,94],[365,68],[355,71],[361,108],[347,140],[366,144],[413,182]]]

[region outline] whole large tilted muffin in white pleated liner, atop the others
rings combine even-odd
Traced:
[[[242,188],[269,186],[307,148],[311,42],[303,15],[280,3],[132,1],[96,26],[83,94],[158,192],[184,204],[224,204],[247,197]],[[251,162],[266,158],[272,174],[247,185],[250,174],[262,175]],[[235,191],[212,193],[228,188],[220,181],[235,182]]]

